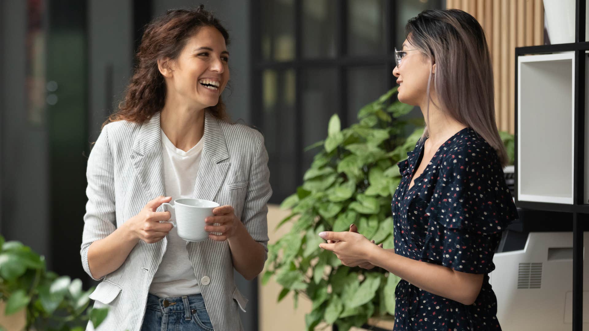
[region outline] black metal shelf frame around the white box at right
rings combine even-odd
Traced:
[[[518,207],[562,211],[573,214],[573,331],[583,330],[583,231],[589,230],[589,222],[580,220],[589,214],[589,204],[584,201],[585,164],[585,58],[589,42],[585,41],[585,1],[575,0],[575,42],[570,44],[540,45],[515,48],[515,68],[518,57],[531,54],[574,52],[574,141],[573,141],[573,204],[518,201],[518,160],[515,158],[515,202]],[[521,147],[518,141],[518,71],[515,71],[515,155]]]

